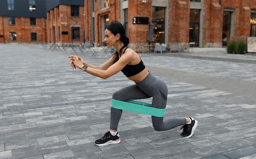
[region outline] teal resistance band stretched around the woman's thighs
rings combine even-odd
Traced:
[[[151,107],[151,104],[139,102],[135,100],[120,101],[112,99],[111,107],[136,113],[152,115],[156,117],[164,117],[164,110]]]

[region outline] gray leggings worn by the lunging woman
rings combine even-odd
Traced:
[[[164,109],[166,107],[167,94],[168,89],[164,81],[149,73],[141,82],[116,91],[112,98],[126,101],[153,97],[152,107]],[[111,107],[110,129],[117,131],[122,111]],[[151,118],[156,131],[166,131],[186,124],[185,118],[170,118],[165,121],[164,117],[151,116]]]

